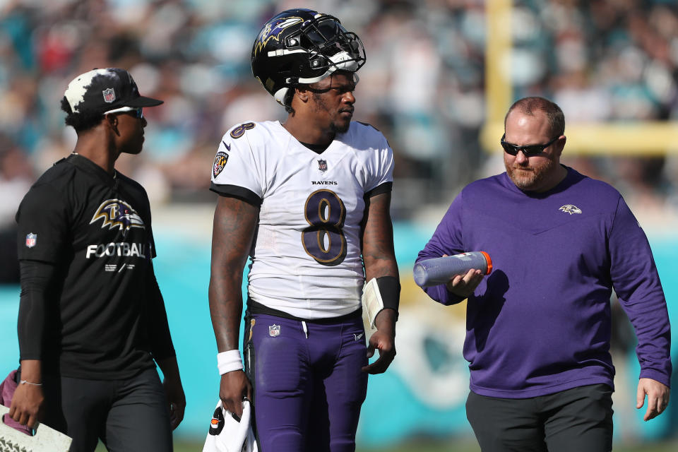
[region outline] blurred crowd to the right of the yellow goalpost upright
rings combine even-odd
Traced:
[[[552,98],[566,124],[678,121],[678,2],[525,0],[512,18],[515,98]],[[601,140],[600,156],[564,162],[612,183],[651,215],[678,207],[677,150],[605,157]]]

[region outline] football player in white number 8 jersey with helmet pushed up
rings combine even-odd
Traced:
[[[220,398],[237,415],[243,398],[254,400],[264,452],[354,451],[367,374],[396,355],[393,151],[381,132],[352,121],[364,62],[362,42],[338,18],[308,9],[271,18],[252,71],[287,120],[235,125],[214,160],[209,297]],[[384,309],[366,344],[360,299],[371,278]]]

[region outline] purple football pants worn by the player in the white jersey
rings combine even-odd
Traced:
[[[367,365],[362,318],[305,326],[265,314],[246,319],[260,450],[355,451],[367,393],[367,374],[360,370]]]

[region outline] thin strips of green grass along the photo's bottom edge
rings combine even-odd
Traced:
[[[175,441],[174,452],[200,452],[203,449],[201,442]],[[100,444],[97,452],[105,452]],[[675,452],[678,450],[678,442],[643,443],[635,445],[614,444],[614,452]],[[480,452],[475,442],[468,439],[447,441],[410,441],[399,446],[388,448],[357,448],[356,452]]]

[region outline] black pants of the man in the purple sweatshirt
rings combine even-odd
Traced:
[[[482,452],[612,451],[612,389],[605,384],[521,399],[471,391],[466,417]]]

